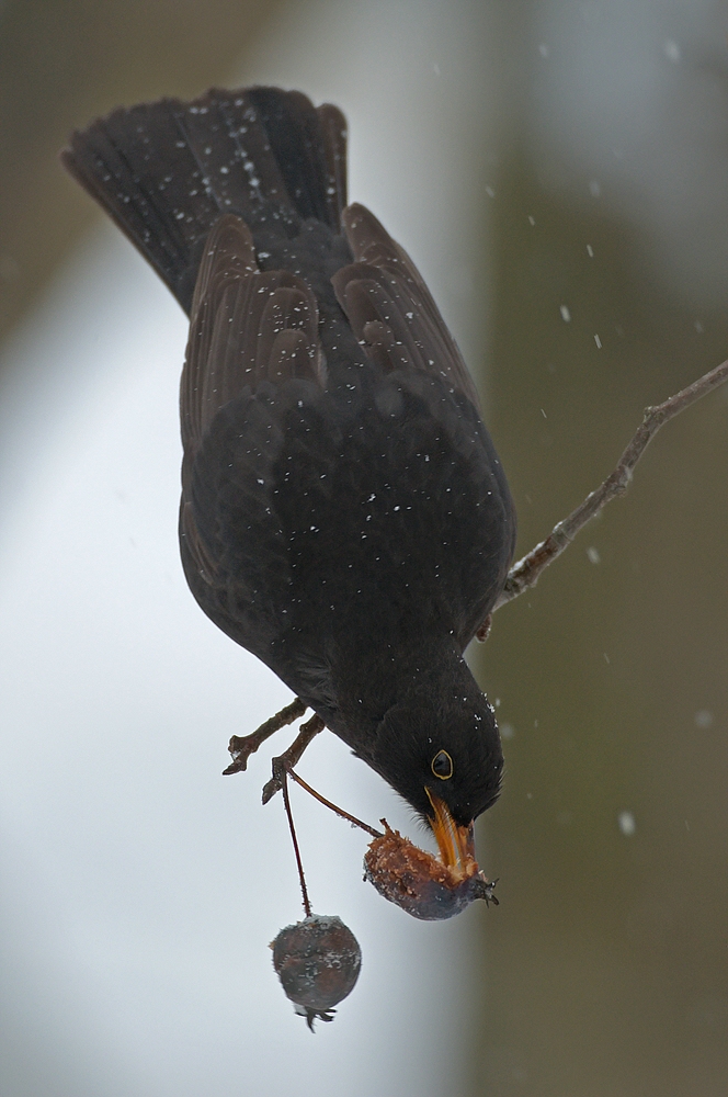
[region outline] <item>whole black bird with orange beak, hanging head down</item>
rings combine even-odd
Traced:
[[[503,587],[515,512],[421,275],[346,205],[345,142],[335,106],[250,88],[114,111],[61,157],[190,315],[194,597],[459,866],[503,766],[463,652]]]

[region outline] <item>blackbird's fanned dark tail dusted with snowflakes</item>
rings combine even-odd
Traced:
[[[189,314],[204,241],[224,213],[296,235],[316,217],[339,230],[346,124],[277,88],[211,90],[183,103],[114,111],[77,131],[61,161],[116,222]]]

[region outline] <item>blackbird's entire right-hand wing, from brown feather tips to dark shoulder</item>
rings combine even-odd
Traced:
[[[413,444],[399,467],[411,495],[430,502],[421,513],[431,527],[413,535],[412,544],[425,546],[414,550],[422,574],[437,561],[432,590],[447,603],[465,647],[502,589],[513,556],[513,501],[473,378],[414,263],[364,206],[348,206],[342,224],[355,261],[331,281],[354,335],[384,373],[378,407],[391,405],[397,417],[394,388],[412,404],[401,437]],[[436,456],[441,445],[445,450]],[[433,460],[424,456],[422,466],[424,454]],[[440,539],[433,519],[441,523]],[[412,514],[409,529],[417,529]]]

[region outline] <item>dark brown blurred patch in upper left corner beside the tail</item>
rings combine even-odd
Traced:
[[[225,83],[280,0],[4,0],[0,339],[100,214],[62,171],[71,131],[121,104]]]

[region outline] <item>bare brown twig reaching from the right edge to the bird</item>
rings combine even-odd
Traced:
[[[676,415],[680,415],[681,411],[684,411],[695,400],[699,400],[702,396],[713,392],[714,388],[717,388],[726,380],[728,380],[728,361],[716,365],[714,370],[704,374],[698,381],[689,385],[687,388],[683,388],[675,396],[671,396],[664,404],[646,408],[641,426],[622,454],[614,472],[611,476],[607,476],[595,491],[588,495],[584,501],[568,518],[558,522],[545,541],[537,544],[535,548],[531,550],[527,556],[524,556],[517,564],[513,565],[508,574],[505,586],[493,607],[493,612],[500,609],[501,606],[510,602],[513,598],[517,598],[524,590],[534,587],[544,568],[548,567],[571,544],[582,525],[585,525],[591,518],[594,518],[611,499],[614,499],[618,495],[624,495],[629,486],[635,465],[660,427]]]

